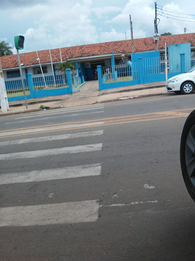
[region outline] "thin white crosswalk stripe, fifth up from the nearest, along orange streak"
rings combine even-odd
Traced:
[[[72,128],[72,127],[83,127],[83,126],[93,126],[93,125],[99,125],[99,124],[103,124],[104,122],[86,122],[86,123],[80,123],[80,124],[64,124],[64,125],[47,125],[48,127],[42,127],[42,128],[20,128],[18,131],[10,131],[10,132],[0,132],[0,137],[4,137],[7,135],[23,135],[25,133],[40,133],[40,132],[47,132],[47,131],[53,131],[53,130],[60,130],[63,128]]]

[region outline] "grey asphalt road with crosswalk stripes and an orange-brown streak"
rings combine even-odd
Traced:
[[[0,117],[0,260],[195,260],[195,94]]]

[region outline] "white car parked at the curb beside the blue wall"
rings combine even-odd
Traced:
[[[195,89],[195,66],[188,71],[171,77],[167,83],[168,92],[190,94]]]

